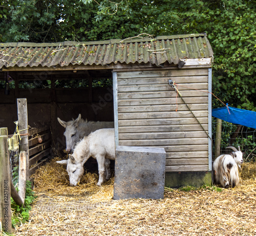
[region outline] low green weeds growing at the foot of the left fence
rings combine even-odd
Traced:
[[[11,198],[11,207],[13,210],[12,225],[19,225],[29,220],[29,210],[31,210],[31,204],[36,199],[35,193],[31,189],[31,182],[26,182],[26,196],[25,196],[25,207],[20,207]]]

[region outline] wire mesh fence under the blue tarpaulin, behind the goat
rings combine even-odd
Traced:
[[[212,154],[214,159],[217,157],[215,157],[216,127],[217,119],[212,117]],[[222,121],[221,153],[224,153],[225,148],[229,145],[236,148],[240,146],[245,162],[256,161],[256,129]]]

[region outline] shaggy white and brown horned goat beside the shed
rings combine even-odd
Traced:
[[[239,183],[238,167],[241,168],[243,163],[243,153],[240,151],[239,146],[239,150],[234,147],[227,148],[232,149],[234,152],[221,155],[214,161],[215,181],[225,188],[229,187],[229,185],[234,187]]]

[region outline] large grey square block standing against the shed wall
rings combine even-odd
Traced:
[[[117,146],[114,199],[163,199],[164,148]]]

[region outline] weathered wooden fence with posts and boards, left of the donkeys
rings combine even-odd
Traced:
[[[11,233],[10,198],[18,205],[24,205],[26,180],[32,181],[31,175],[38,167],[51,159],[52,135],[50,126],[29,128],[27,100],[17,99],[18,127],[22,140],[19,144],[18,193],[12,182],[10,154],[8,150],[8,130],[0,128],[0,232],[2,229]]]

